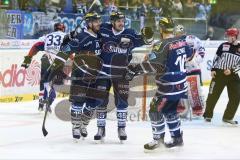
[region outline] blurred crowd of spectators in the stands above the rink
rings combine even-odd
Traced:
[[[94,0],[10,0],[9,8],[24,10],[26,12],[45,13],[77,13],[86,14]],[[213,1],[215,1],[213,3]],[[144,25],[154,26],[158,29],[158,19],[162,16],[170,16],[180,19],[189,32],[198,34],[200,38],[219,39],[221,29],[226,29],[239,19],[240,1],[232,0],[96,0],[90,11],[101,15],[109,15],[120,10],[131,19],[132,27],[139,30]],[[233,9],[235,6],[235,9]],[[226,8],[224,10],[224,8]],[[227,12],[226,12],[227,10]],[[238,12],[237,18],[228,11]],[[182,22],[183,21],[183,22]],[[198,24],[195,24],[198,23]],[[240,23],[240,22],[239,22]],[[238,27],[238,26],[236,26]],[[220,28],[220,30],[219,30]],[[204,32],[204,33],[203,33]],[[213,34],[213,32],[219,32]],[[205,38],[204,38],[205,39]]]

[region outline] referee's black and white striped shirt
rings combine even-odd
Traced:
[[[240,64],[240,43],[233,45],[231,43],[222,43],[217,50],[213,60],[214,69],[234,69]]]

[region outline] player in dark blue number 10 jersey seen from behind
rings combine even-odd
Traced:
[[[129,66],[126,74],[126,79],[143,71],[157,74],[155,81],[158,89],[149,110],[153,141],[144,145],[146,150],[153,150],[161,144],[169,148],[183,145],[177,105],[180,98],[186,98],[185,62],[192,52],[184,37],[174,37],[174,23],[170,18],[162,17],[159,27],[162,41],[153,46],[149,60],[135,67]],[[165,123],[172,137],[169,143],[164,143]]]

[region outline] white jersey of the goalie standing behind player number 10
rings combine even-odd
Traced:
[[[205,56],[205,47],[202,41],[194,35],[187,35],[186,42],[194,52],[193,59],[186,63],[187,72],[201,70],[200,63],[203,62]]]

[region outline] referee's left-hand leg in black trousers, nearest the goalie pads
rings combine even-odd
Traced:
[[[209,93],[206,101],[206,109],[203,114],[203,117],[206,121],[210,122],[213,117],[213,110],[216,106],[216,103],[226,85],[226,77],[221,73],[217,72],[216,77],[212,79],[209,86]]]

